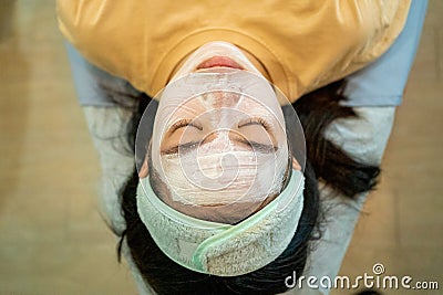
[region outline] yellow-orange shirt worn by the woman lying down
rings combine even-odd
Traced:
[[[62,33],[99,67],[154,96],[210,41],[257,57],[293,102],[379,57],[410,0],[58,0]]]

